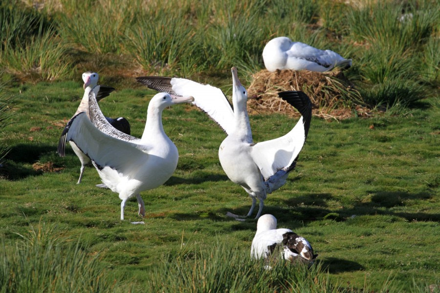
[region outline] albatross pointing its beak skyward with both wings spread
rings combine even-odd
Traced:
[[[264,199],[268,193],[286,183],[298,154],[307,138],[311,119],[311,102],[301,91],[286,91],[279,96],[301,113],[298,123],[286,135],[277,139],[254,143],[246,110],[247,92],[240,83],[237,69],[232,67],[232,104],[223,92],[209,84],[170,77],[138,77],[136,80],[149,88],[176,95],[191,95],[193,104],[206,112],[226,132],[227,137],[219,148],[221,167],[229,179],[242,186],[252,198],[249,217],[260,201],[257,216],[260,217]],[[228,216],[239,218],[230,212]]]

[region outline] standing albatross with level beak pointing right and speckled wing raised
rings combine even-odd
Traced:
[[[165,183],[177,167],[177,147],[163,130],[162,111],[167,106],[192,102],[194,98],[156,94],[148,105],[144,133],[138,139],[110,125],[96,101],[99,92],[97,85],[89,93],[90,120],[86,112],[81,112],[68,122],[58,153],[64,156],[66,141],[73,141],[90,158],[102,182],[119,194],[121,220],[126,201],[132,196],[136,196],[138,214],[143,217],[145,207],[140,192]]]

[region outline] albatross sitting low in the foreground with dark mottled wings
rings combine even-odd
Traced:
[[[287,261],[301,261],[313,264],[318,254],[306,238],[297,235],[289,229],[277,229],[277,219],[270,214],[262,215],[257,222],[257,232],[252,240],[251,257],[253,259],[267,258],[279,251],[279,255]]]

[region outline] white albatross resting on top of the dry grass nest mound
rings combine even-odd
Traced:
[[[320,50],[302,42],[292,42],[287,37],[270,40],[263,49],[264,66],[269,71],[277,69],[324,72],[334,67],[347,69],[351,59],[344,59],[331,50]]]

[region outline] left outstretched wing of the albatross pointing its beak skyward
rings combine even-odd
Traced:
[[[227,134],[232,133],[234,112],[220,88],[183,78],[144,76],[137,77],[136,80],[157,91],[177,96],[193,96],[192,104],[208,114]]]

